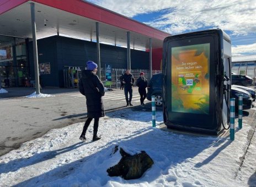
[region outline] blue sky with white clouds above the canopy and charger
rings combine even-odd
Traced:
[[[256,0],[89,0],[170,34],[220,28],[232,55],[256,54]]]

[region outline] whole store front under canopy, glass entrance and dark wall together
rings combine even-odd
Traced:
[[[110,64],[114,69],[127,67],[126,48],[100,44],[101,67]],[[63,36],[38,40],[40,84],[46,87],[65,87],[63,70],[86,67],[87,61],[97,61],[96,43]],[[0,79],[2,87],[31,86],[35,80],[33,42],[29,38],[0,35]],[[131,50],[131,68],[149,69],[149,52]],[[43,68],[42,68],[43,67]],[[104,76],[104,75],[103,75]]]

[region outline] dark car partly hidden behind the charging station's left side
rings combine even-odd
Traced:
[[[162,84],[163,74],[155,74],[152,75],[147,88],[147,100],[151,101],[151,96],[155,96],[155,103],[158,107],[162,107],[163,105]]]

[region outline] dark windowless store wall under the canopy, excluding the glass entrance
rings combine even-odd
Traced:
[[[127,68],[126,48],[100,43],[100,66],[112,69]],[[42,87],[65,87],[65,69],[84,69],[87,61],[97,62],[96,42],[76,38],[51,36],[38,40],[39,79]],[[28,45],[31,80],[35,80],[33,63],[33,42]],[[131,49],[131,69],[149,69],[149,52]],[[105,73],[102,73],[104,81]],[[68,76],[67,76],[68,78]]]

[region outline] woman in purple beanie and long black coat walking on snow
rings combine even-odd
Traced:
[[[92,61],[87,62],[87,70],[82,71],[82,77],[79,80],[79,91],[86,96],[87,116],[88,119],[84,124],[80,140],[86,140],[86,131],[90,122],[94,119],[93,141],[100,139],[97,136],[99,127],[99,118],[104,117],[104,107],[102,96],[104,96],[104,85],[96,75],[98,65]]]

